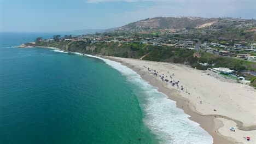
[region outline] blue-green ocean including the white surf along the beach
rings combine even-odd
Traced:
[[[0,143],[212,143],[176,102],[118,62],[17,49],[53,34],[0,34]]]

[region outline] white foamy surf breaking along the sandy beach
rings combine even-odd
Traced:
[[[160,143],[213,143],[211,135],[203,130],[198,123],[191,121],[189,115],[178,109],[175,101],[158,92],[157,88],[141,79],[135,71],[109,59],[91,55],[86,56],[102,59],[125,75],[128,81],[141,88],[141,92],[137,96],[147,101],[146,103],[141,103],[146,115],[144,123],[158,136],[161,140]]]

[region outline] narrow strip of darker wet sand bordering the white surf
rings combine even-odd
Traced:
[[[125,63],[123,61],[118,61],[117,59],[114,59],[113,57],[105,57],[103,58],[109,59],[111,61],[119,62],[122,65],[125,65],[126,67],[132,69],[137,74],[139,74],[143,80],[147,81],[150,85],[158,88],[159,92],[162,92],[167,95],[167,97],[173,101],[176,101],[176,107],[179,109],[182,109],[184,113],[188,114],[190,117],[189,119],[191,121],[194,121],[196,123],[200,124],[200,127],[206,130],[212,137],[213,137],[213,143],[214,144],[231,144],[235,143],[236,141],[233,139],[229,139],[228,137],[222,136],[219,134],[218,129],[216,129],[215,123],[214,123],[214,116],[203,116],[199,113],[196,113],[195,111],[191,110],[190,106],[188,106],[185,102],[188,101],[187,99],[180,96],[179,91],[176,89],[168,89],[162,85],[160,81],[155,81],[152,79],[152,76],[144,73],[141,71],[141,69],[136,69],[133,65],[130,65],[129,63]],[[182,108],[183,106],[183,108]],[[208,122],[208,123],[205,123]],[[219,127],[219,126],[218,126]],[[215,131],[217,133],[215,133]]]

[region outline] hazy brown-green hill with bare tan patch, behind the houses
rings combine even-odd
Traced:
[[[116,33],[174,35],[181,38],[217,40],[255,40],[256,20],[230,17],[154,17],[129,23]]]

